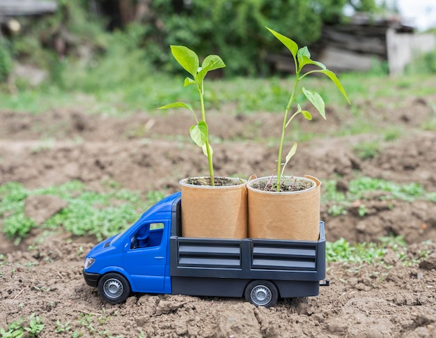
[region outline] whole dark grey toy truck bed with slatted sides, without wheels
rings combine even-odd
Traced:
[[[180,201],[174,203],[172,217],[170,275],[174,293],[212,295],[213,290],[213,295],[238,296],[249,280],[267,279],[277,284],[282,297],[318,294],[319,282],[325,278],[324,222],[320,222],[318,241],[211,240],[180,236]],[[297,291],[292,290],[294,284]]]

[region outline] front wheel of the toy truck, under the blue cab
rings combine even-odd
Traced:
[[[110,272],[98,281],[98,293],[111,304],[124,302],[130,295],[130,284],[123,275]]]

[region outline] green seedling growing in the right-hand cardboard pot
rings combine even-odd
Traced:
[[[286,105],[285,114],[283,116],[283,125],[281,126],[281,139],[279,144],[279,156],[277,158],[277,192],[280,192],[281,176],[283,176],[283,172],[285,171],[286,164],[288,164],[290,159],[293,157],[293,155],[295,155],[295,152],[297,151],[297,143],[294,142],[293,146],[290,148],[290,151],[286,155],[285,162],[284,163],[281,162],[282,153],[283,153],[283,143],[286,135],[286,128],[288,128],[291,121],[293,121],[295,116],[297,116],[298,114],[302,114],[302,116],[306,118],[306,120],[311,121],[312,119],[311,113],[308,112],[307,110],[302,109],[302,107],[299,104],[297,105],[295,113],[289,117],[290,109],[295,101],[295,98],[297,98],[297,96],[300,93],[298,89],[299,82],[304,77],[310,74],[314,74],[314,73],[325,74],[327,75],[327,77],[329,77],[329,79],[332,80],[334,84],[336,84],[336,87],[338,87],[339,91],[341,91],[341,93],[345,96],[348,103],[350,103],[350,100],[348,99],[348,96],[345,93],[345,90],[343,89],[341,82],[339,82],[334,72],[328,70],[322,63],[318,61],[313,61],[311,59],[311,54],[309,53],[309,49],[307,47],[299,48],[297,43],[295,43],[295,41],[291,40],[290,38],[287,38],[286,36],[281,35],[280,33],[277,33],[276,31],[273,31],[268,27],[266,28],[281,43],[283,43],[283,45],[285,45],[286,48],[289,49],[290,54],[292,54],[295,63],[295,82],[292,92],[290,94],[288,105]],[[302,72],[304,66],[306,65],[312,65],[319,69]],[[322,100],[321,96],[314,91],[309,91],[305,89],[304,87],[302,87],[301,91],[304,94],[304,96],[306,96],[306,99],[309,100],[309,102],[311,102],[311,104],[318,110],[322,118],[325,119],[325,103],[324,100]]]

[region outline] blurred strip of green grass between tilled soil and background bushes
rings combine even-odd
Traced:
[[[118,62],[118,61],[117,61]],[[109,68],[111,66],[111,68]],[[168,102],[192,102],[195,107],[197,93],[190,87],[182,88],[183,77],[166,75],[159,70],[146,72],[104,64],[102,69],[83,68],[73,63],[65,66],[65,84],[42,84],[37,88],[20,86],[17,93],[0,90],[2,109],[17,112],[43,112],[52,107],[96,105],[92,112],[130,114],[141,109],[157,112],[156,108]],[[109,71],[111,69],[112,71]],[[136,70],[138,71],[138,70]],[[123,72],[117,75],[116,72]],[[129,72],[129,73],[125,73]],[[405,75],[390,78],[382,75],[349,73],[339,75],[351,102],[371,101],[377,106],[402,105],[407,96],[433,94],[435,75]],[[67,81],[68,80],[68,81]],[[205,103],[212,109],[233,103],[233,113],[284,112],[289,100],[292,82],[286,78],[206,79]],[[327,105],[347,107],[341,93],[329,86],[323,77],[306,79],[306,88],[316,90]],[[116,105],[116,110],[109,107]],[[365,115],[365,112],[358,112]],[[328,118],[328,116],[327,116]]]

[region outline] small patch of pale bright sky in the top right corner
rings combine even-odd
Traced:
[[[419,31],[436,26],[436,0],[396,0],[403,24]]]

